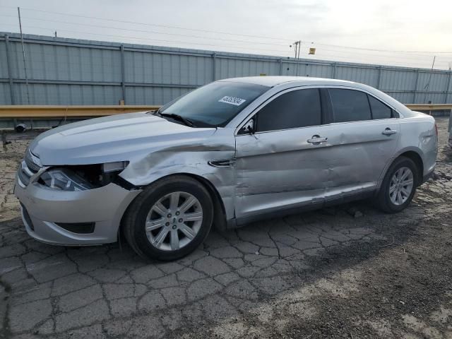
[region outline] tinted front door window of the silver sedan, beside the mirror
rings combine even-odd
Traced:
[[[257,130],[261,132],[316,125],[321,125],[321,103],[317,88],[284,93],[257,113]]]

